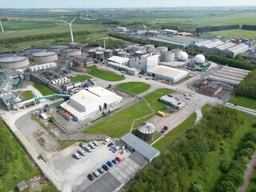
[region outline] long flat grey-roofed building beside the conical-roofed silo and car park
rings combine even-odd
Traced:
[[[145,158],[147,162],[151,162],[153,158],[157,157],[160,154],[159,150],[156,150],[153,146],[150,146],[146,142],[143,142],[142,139],[136,137],[134,134],[128,133],[122,136],[120,140],[122,142],[125,142],[125,146],[127,149],[133,152],[137,152],[143,158]]]

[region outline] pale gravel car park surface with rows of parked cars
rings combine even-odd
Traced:
[[[79,149],[79,142],[53,156],[50,167],[61,178],[63,184],[62,191],[80,191],[85,189],[86,186],[92,183],[87,178],[87,174],[91,174],[94,170],[97,170],[103,164],[106,164],[107,161],[111,161],[117,156],[125,159],[130,155],[126,150],[123,150],[123,154],[121,154],[121,150],[113,153],[107,145],[102,144],[102,142],[98,143],[99,145],[92,152],[86,152],[86,155],[81,156],[80,159],[72,156],[74,151]],[[94,178],[95,180],[97,178]]]

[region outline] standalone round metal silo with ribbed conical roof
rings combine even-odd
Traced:
[[[155,135],[155,126],[150,122],[143,122],[138,125],[137,136],[144,142],[153,141]]]

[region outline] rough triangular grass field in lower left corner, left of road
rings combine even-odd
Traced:
[[[0,121],[0,134],[7,135],[14,146],[14,150],[11,151],[14,158],[12,159],[10,170],[0,177],[4,186],[1,191],[14,191],[13,189],[17,186],[18,182],[21,182],[22,180],[28,181],[35,175],[41,174],[41,172],[34,167],[26,154],[26,151],[18,142],[18,139],[14,137],[2,120]]]

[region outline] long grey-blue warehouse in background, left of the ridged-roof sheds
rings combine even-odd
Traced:
[[[166,43],[172,46],[177,46],[179,48],[185,49],[186,47],[193,45],[196,42],[200,42],[202,40],[199,38],[190,38],[182,35],[174,35],[172,37],[166,35],[157,35],[154,37],[147,38],[146,41]]]

